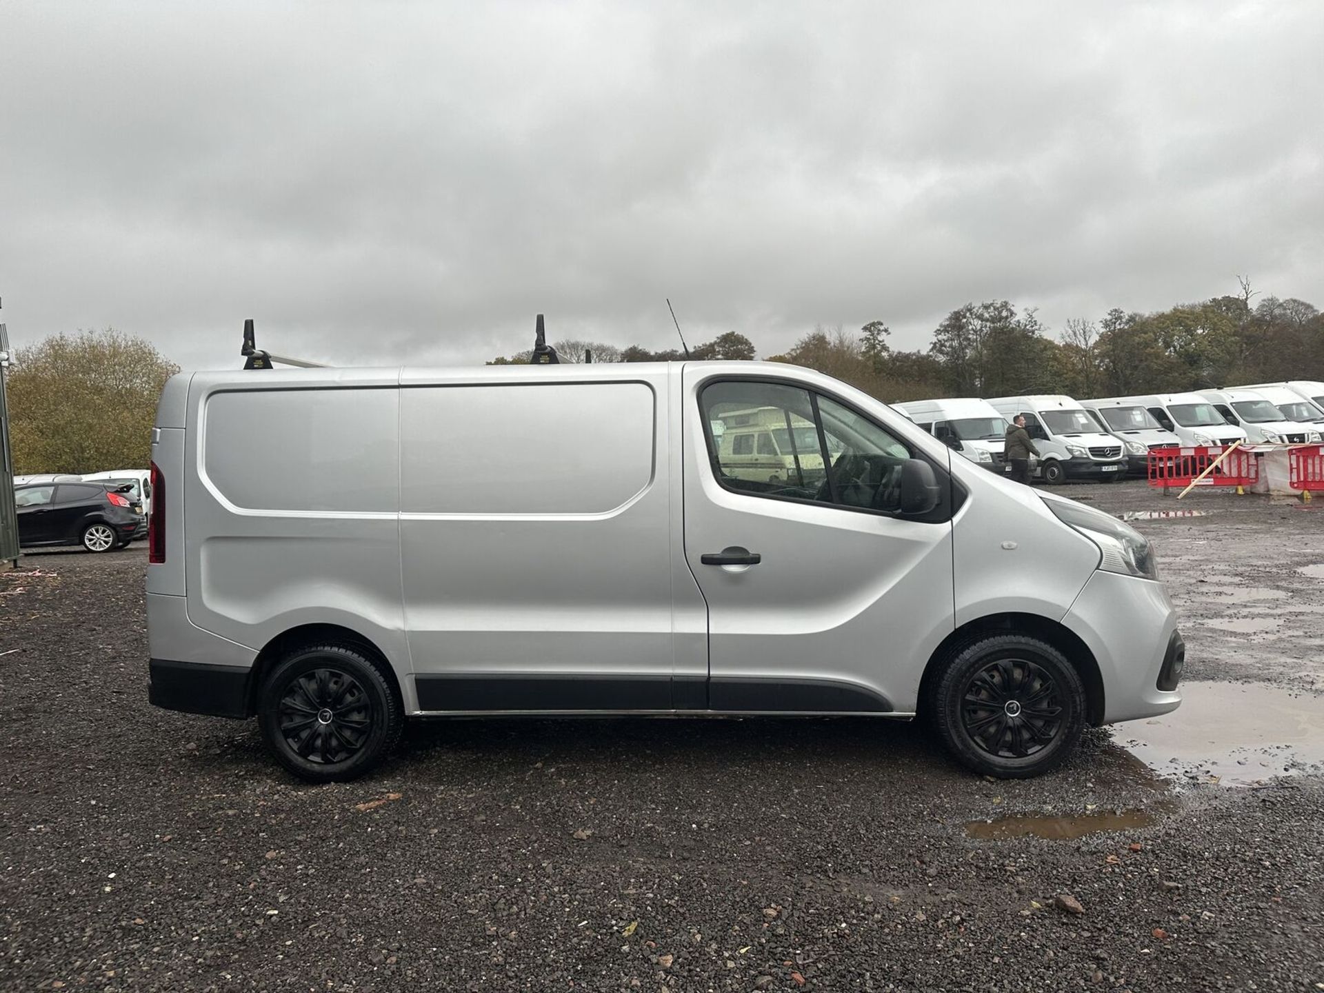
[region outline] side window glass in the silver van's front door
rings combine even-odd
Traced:
[[[712,471],[726,489],[857,510],[900,510],[902,465],[910,449],[843,404],[798,387],[741,380],[704,387],[699,406]],[[739,458],[737,442],[751,429],[776,437],[780,454]]]

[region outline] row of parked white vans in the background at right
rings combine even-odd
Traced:
[[[972,462],[1010,471],[1006,425],[1023,414],[1047,483],[1147,473],[1151,449],[1317,444],[1324,383],[1260,383],[1192,393],[1074,400],[1062,395],[916,400],[896,409]]]

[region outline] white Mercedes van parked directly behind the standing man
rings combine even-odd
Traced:
[[[1025,429],[1039,450],[1039,477],[1107,482],[1127,474],[1125,446],[1099,430],[1099,422],[1068,396],[1000,396],[989,404],[1009,422],[1025,414]]]

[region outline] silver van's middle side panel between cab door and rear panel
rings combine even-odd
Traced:
[[[401,391],[421,708],[669,710],[666,369],[536,376]]]

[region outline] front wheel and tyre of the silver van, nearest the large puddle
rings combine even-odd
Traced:
[[[1057,768],[1084,731],[1084,683],[1075,666],[1047,642],[1019,634],[955,649],[929,706],[933,727],[957,761],[998,779]]]

